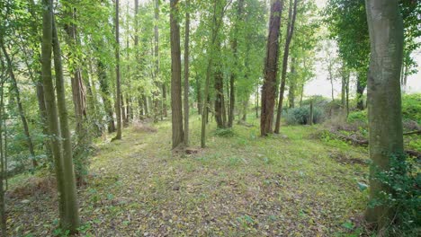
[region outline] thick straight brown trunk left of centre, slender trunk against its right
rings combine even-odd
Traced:
[[[181,83],[180,26],[177,20],[178,0],[170,0],[171,13],[171,110],[173,149],[183,146],[183,105]]]

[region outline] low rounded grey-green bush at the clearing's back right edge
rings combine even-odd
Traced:
[[[320,123],[323,119],[323,112],[318,107],[313,107],[313,123]],[[309,106],[293,108],[286,112],[286,123],[288,125],[305,125],[309,121]]]

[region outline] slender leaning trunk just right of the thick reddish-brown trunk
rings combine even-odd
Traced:
[[[275,130],[276,134],[279,134],[279,129],[281,127],[281,116],[282,116],[282,106],[283,106],[283,92],[285,92],[285,82],[286,82],[286,71],[288,69],[288,57],[290,55],[290,44],[292,40],[292,35],[294,32],[295,19],[297,18],[297,4],[299,0],[294,0],[293,10],[292,10],[292,0],[290,0],[290,10],[288,13],[288,25],[287,25],[287,37],[285,41],[285,48],[283,49],[283,58],[282,58],[282,74],[281,74],[281,88],[279,90],[279,102],[278,110],[276,111],[276,123]]]

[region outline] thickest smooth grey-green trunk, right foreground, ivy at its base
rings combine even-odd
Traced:
[[[372,159],[370,199],[379,200],[390,194],[390,186],[375,179],[376,175],[390,170],[392,156],[405,159],[399,82],[404,36],[398,0],[366,0],[365,4],[372,49],[367,80]],[[368,206],[365,218],[376,224],[383,235],[381,231],[391,223],[395,211],[385,204]]]

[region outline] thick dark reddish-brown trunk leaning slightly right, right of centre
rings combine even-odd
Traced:
[[[282,4],[280,0],[271,1],[271,20],[267,38],[266,58],[264,62],[264,84],[262,87],[262,110],[260,134],[267,136],[273,132],[273,109],[278,73],[279,31],[281,25]]]

